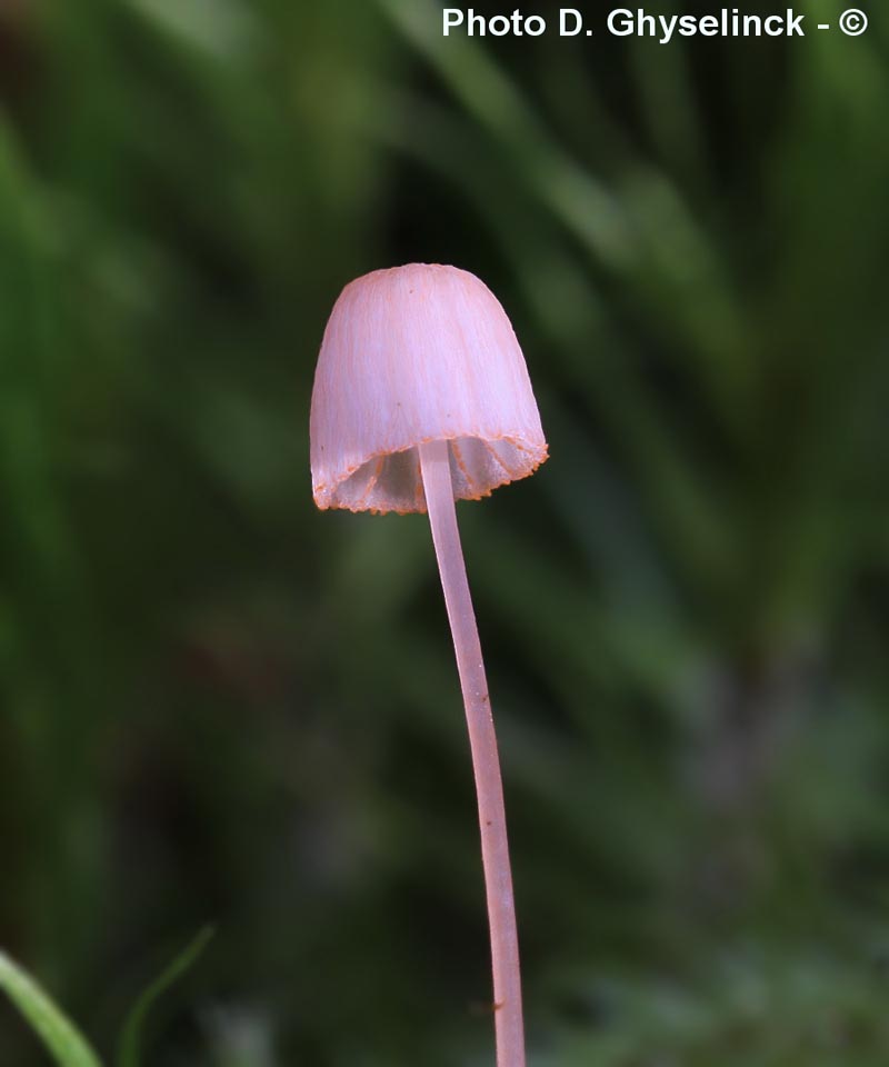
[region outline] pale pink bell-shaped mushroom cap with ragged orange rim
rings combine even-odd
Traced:
[[[314,375],[319,508],[426,511],[417,446],[449,441],[457,499],[547,458],[528,369],[488,287],[456,267],[377,270],[343,289]]]

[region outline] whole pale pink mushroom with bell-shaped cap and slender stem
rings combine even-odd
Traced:
[[[491,933],[498,1067],[522,1067],[521,979],[503,789],[456,499],[547,458],[525,359],[497,298],[456,267],[411,263],[346,287],[312,392],[319,508],[428,511],[466,706]]]

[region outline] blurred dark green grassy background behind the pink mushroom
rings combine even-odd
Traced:
[[[342,286],[453,262],[551,450],[459,509],[531,1064],[886,1064],[887,12],[440,7],[0,3],[0,945],[107,1050],[216,924],[153,1067],[492,1063],[428,528],[308,472]]]

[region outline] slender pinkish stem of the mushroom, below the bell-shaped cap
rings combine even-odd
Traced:
[[[509,865],[503,786],[497,737],[481,658],[476,614],[469,595],[447,441],[419,445],[426,505],[432,527],[441,587],[463,692],[481,828],[481,857],[488,897],[493,965],[497,1067],[525,1067],[519,941]]]

